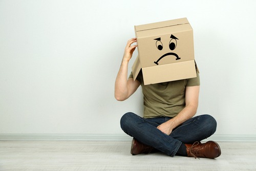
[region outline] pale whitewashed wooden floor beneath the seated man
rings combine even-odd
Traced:
[[[132,156],[128,141],[0,141],[0,170],[256,170],[256,142],[219,142],[217,159]]]

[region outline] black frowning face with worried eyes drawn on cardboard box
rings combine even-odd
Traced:
[[[176,60],[181,59],[176,53],[171,52],[174,51],[175,48],[177,47],[177,40],[179,40],[177,37],[175,37],[174,35],[170,35],[170,41],[169,41],[169,45],[163,45],[161,42],[161,37],[155,38],[154,40],[156,40],[156,48],[161,51],[163,48],[166,48],[168,46],[170,52],[163,54],[161,57],[159,57],[159,59],[157,61],[154,61],[154,63],[156,63],[156,65],[158,65],[158,62],[163,58],[163,57],[171,57],[171,56],[175,56]]]

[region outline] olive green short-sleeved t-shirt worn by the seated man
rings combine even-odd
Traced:
[[[133,78],[133,73],[129,78]],[[189,86],[199,86],[200,77],[163,83],[144,85],[142,72],[136,78],[142,87],[144,118],[175,117],[185,108],[185,90]]]

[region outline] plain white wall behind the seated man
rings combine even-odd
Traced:
[[[255,6],[253,0],[0,1],[0,134],[124,134],[120,117],[143,112],[141,89],[127,101],[114,98],[134,25],[187,17],[201,73],[198,114],[217,119],[217,135],[256,136]]]

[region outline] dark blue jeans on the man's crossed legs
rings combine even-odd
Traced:
[[[188,119],[177,126],[170,135],[157,129],[169,117],[142,118],[134,113],[126,113],[120,120],[121,129],[139,142],[150,145],[174,157],[182,143],[191,144],[210,137],[215,133],[217,122],[210,115],[200,115]]]

